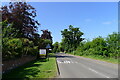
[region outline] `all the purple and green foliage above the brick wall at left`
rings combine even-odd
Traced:
[[[52,45],[51,32],[37,33],[36,10],[26,2],[10,2],[2,6],[2,50],[3,60],[38,55],[40,48]],[[38,57],[38,56],[37,56]]]

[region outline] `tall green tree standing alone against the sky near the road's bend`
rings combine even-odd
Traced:
[[[68,29],[61,31],[61,33],[63,37],[63,44],[66,45],[66,50],[69,52],[76,50],[80,42],[84,40],[81,38],[83,32],[81,32],[79,28],[74,28],[72,25],[70,25]]]

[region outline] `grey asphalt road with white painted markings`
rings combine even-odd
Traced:
[[[118,78],[118,65],[57,53],[59,78]]]

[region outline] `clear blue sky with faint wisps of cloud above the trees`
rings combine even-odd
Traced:
[[[37,10],[38,32],[48,29],[53,42],[61,42],[61,31],[69,25],[79,27],[82,37],[92,40],[118,32],[117,2],[29,2]]]

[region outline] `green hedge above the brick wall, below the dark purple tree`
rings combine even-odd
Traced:
[[[24,55],[35,55],[37,46],[25,38],[3,38],[3,59],[22,57]]]

